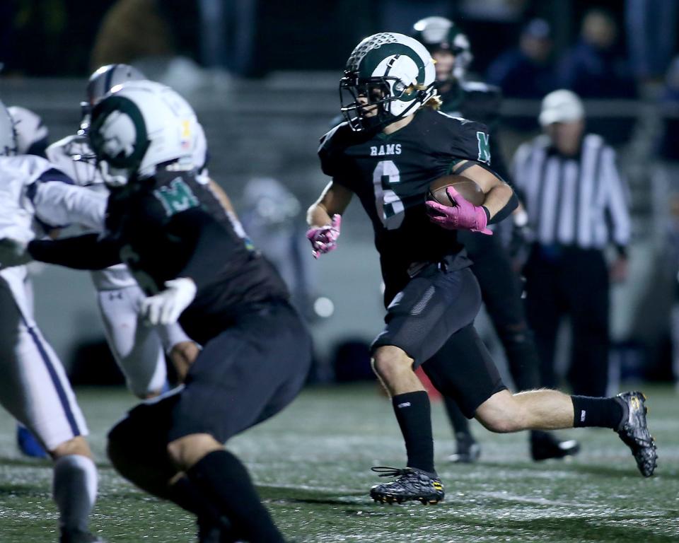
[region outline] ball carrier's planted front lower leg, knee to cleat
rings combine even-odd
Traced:
[[[419,500],[437,503],[443,499],[443,484],[434,469],[434,439],[431,435],[429,395],[415,375],[413,359],[398,347],[381,346],[373,353],[373,370],[391,397],[396,420],[407,451],[407,468],[376,467],[381,477],[395,481],[372,487],[375,501],[400,503]]]

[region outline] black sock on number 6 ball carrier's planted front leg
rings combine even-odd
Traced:
[[[405,440],[408,467],[434,471],[434,438],[431,436],[431,407],[424,390],[406,392],[391,399],[398,426]]]

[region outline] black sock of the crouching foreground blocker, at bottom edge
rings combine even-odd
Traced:
[[[252,543],[283,542],[247,469],[231,452],[210,452],[187,471],[187,477],[231,521],[239,537]]]

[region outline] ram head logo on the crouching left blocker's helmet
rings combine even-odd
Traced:
[[[89,136],[98,160],[113,168],[136,170],[149,148],[144,116],[124,96],[112,95],[94,108]]]

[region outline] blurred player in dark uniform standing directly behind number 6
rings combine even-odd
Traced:
[[[436,88],[443,105],[441,111],[486,124],[490,133],[493,170],[511,182],[503,154],[495,137],[499,124],[502,95],[499,88],[465,81],[472,61],[469,41],[460,28],[443,17],[427,17],[417,21],[414,37],[422,42],[436,60]],[[521,220],[523,215],[516,215]],[[474,263],[472,271],[479,281],[481,296],[497,335],[504,347],[509,371],[518,390],[539,388],[540,360],[533,334],[526,322],[521,300],[520,279],[511,267],[511,259],[497,236],[460,231],[458,240],[465,246]],[[480,446],[473,438],[468,419],[451,397],[444,397],[451,419],[457,451],[449,457],[453,462],[473,462]],[[558,440],[551,433],[530,432],[530,453],[534,460],[574,455],[579,450],[576,440]]]

